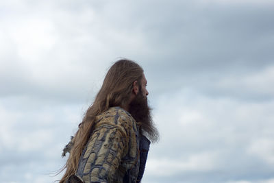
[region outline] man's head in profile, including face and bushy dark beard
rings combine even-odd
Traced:
[[[158,131],[151,119],[147,103],[147,79],[142,68],[131,60],[119,60],[109,69],[93,106],[107,110],[120,106],[128,110],[151,141],[157,141]]]

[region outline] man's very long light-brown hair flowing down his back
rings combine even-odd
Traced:
[[[125,108],[129,104],[133,83],[135,81],[140,83],[142,73],[142,68],[132,60],[118,60],[110,67],[95,101],[86,111],[82,123],[79,124],[79,129],[75,133],[73,147],[62,169],[62,171],[66,169],[66,172],[60,183],[66,182],[71,175],[76,173],[79,158],[92,133],[96,116],[112,106]]]

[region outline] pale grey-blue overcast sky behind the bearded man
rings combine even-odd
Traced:
[[[1,182],[54,182],[119,58],[145,70],[144,183],[274,182],[271,0],[0,2]]]

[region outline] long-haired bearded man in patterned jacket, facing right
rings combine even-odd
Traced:
[[[158,131],[147,104],[147,80],[131,60],[115,62],[63,155],[63,182],[140,182]],[[147,136],[147,137],[146,137]],[[148,139],[149,138],[149,139]]]

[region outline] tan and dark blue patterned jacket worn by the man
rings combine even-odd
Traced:
[[[140,182],[150,141],[139,133],[132,115],[119,107],[110,108],[97,116],[94,129],[80,157],[76,178],[86,183]]]

